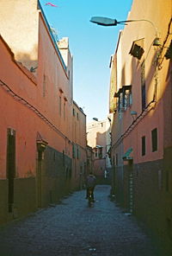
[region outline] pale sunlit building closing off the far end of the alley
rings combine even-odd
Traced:
[[[93,151],[93,170],[98,182],[105,181],[106,171],[110,174],[111,163],[107,151],[110,149],[109,120],[94,118],[87,125],[87,144]]]

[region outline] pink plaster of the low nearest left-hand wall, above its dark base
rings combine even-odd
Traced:
[[[35,103],[36,83],[28,78],[27,73],[15,63],[13,54],[10,53],[9,48],[0,41],[1,53],[1,69],[0,78],[10,87],[10,89],[21,97],[25,96],[31,104]],[[11,61],[12,60],[12,61]],[[32,77],[32,75],[31,75]],[[34,82],[33,82],[34,81]],[[2,85],[2,83],[1,83]],[[28,170],[35,174],[35,151],[36,151],[36,116],[31,115],[31,110],[27,106],[22,105],[15,100],[9,92],[1,86],[1,158],[0,158],[0,177],[6,177],[6,149],[7,149],[7,128],[13,128],[16,131],[17,141],[17,159],[16,172],[18,176],[27,176]],[[30,96],[28,96],[30,95]],[[33,96],[31,96],[33,95]],[[32,99],[33,98],[33,99]],[[32,139],[31,139],[32,138]],[[19,146],[20,144],[20,146]],[[25,159],[25,160],[24,160]]]

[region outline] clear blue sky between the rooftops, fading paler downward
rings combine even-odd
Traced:
[[[91,16],[125,20],[132,0],[40,0],[58,39],[69,37],[74,64],[74,100],[83,108],[87,122],[108,114],[110,56],[114,54],[123,27],[101,27],[89,22]],[[58,7],[46,5],[52,3]]]

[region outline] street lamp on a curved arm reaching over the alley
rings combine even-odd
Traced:
[[[153,45],[154,46],[160,45],[157,27],[150,20],[139,19],[139,20],[128,20],[128,21],[118,22],[116,19],[111,19],[111,18],[101,17],[101,16],[94,16],[94,17],[91,17],[90,22],[93,22],[97,25],[106,26],[106,27],[117,26],[118,24],[126,25],[128,22],[149,22],[149,23],[151,23],[151,25],[153,26],[153,28],[156,31],[156,38],[154,39]]]

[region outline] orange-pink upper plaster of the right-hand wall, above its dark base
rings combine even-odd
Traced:
[[[149,5],[149,8],[148,8]],[[156,11],[154,11],[156,6]],[[144,16],[141,14],[144,13]],[[164,16],[163,21],[159,18]],[[164,13],[164,15],[163,15]],[[163,59],[162,67],[155,66],[155,60],[158,54],[158,50],[161,47],[154,47],[152,45],[153,40],[156,37],[158,31],[160,36],[160,42],[163,44],[164,39],[167,36],[168,25],[171,18],[171,1],[146,1],[144,6],[140,5],[138,0],[134,0],[132,3],[132,11],[128,15],[128,20],[141,20],[145,21],[132,22],[128,24],[125,29],[120,32],[120,38],[118,42],[118,48],[116,49],[115,59],[117,59],[117,78],[116,92],[126,85],[132,85],[132,105],[127,107],[120,115],[118,111],[114,114],[114,134],[113,140],[120,138],[121,134],[124,134],[128,127],[132,125],[133,119],[137,118],[141,112],[141,70],[140,66],[145,59],[145,85],[146,85],[146,105],[148,105],[154,97],[156,92],[156,104],[151,104],[148,113],[144,113],[144,118],[139,118],[138,124],[133,125],[130,132],[127,133],[123,140],[123,152],[129,148],[133,148],[132,156],[133,163],[141,163],[148,161],[155,161],[157,159],[163,159],[163,145],[167,144],[167,130],[169,130],[171,121],[168,124],[164,123],[164,102],[167,97],[165,95],[168,87],[168,74],[169,74],[169,61]],[[151,24],[151,21],[153,25]],[[158,29],[156,29],[158,28]],[[144,55],[140,61],[137,58],[133,58],[129,54],[132,48],[132,42],[137,40],[144,41]],[[166,42],[169,45],[170,38]],[[162,58],[165,54],[163,49]],[[159,60],[160,61],[160,60]],[[157,81],[156,81],[157,79]],[[168,99],[170,101],[170,99]],[[137,112],[137,115],[133,117],[131,112]],[[147,112],[147,111],[146,111]],[[116,123],[116,124],[115,124]],[[120,123],[122,126],[120,126]],[[168,128],[169,126],[169,128]],[[151,131],[157,128],[157,143],[158,150],[151,151]],[[165,132],[164,132],[165,130]],[[146,154],[141,156],[141,138],[146,137]],[[171,141],[171,138],[169,138]]]

